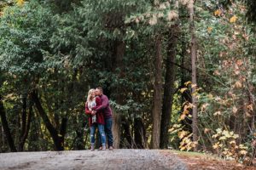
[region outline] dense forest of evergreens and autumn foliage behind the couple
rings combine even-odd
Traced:
[[[255,0],[2,0],[0,153],[85,150],[102,87],[115,149],[256,148]]]

